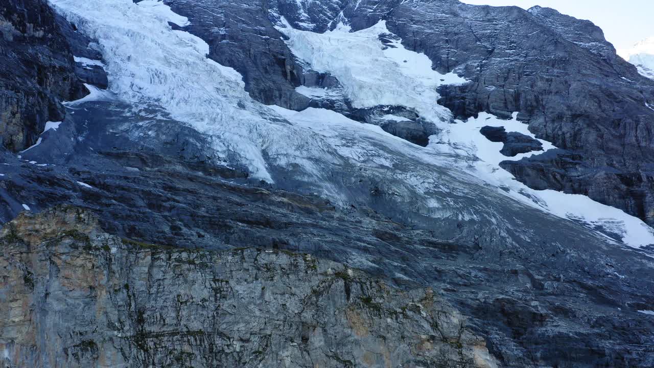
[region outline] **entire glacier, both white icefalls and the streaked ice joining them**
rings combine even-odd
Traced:
[[[97,39],[112,94],[133,103],[158,103],[175,120],[210,136],[216,152],[247,165],[255,177],[273,181],[271,166],[300,166],[320,183],[327,181],[326,168],[366,164],[404,180],[415,196],[424,198],[426,213],[433,217],[488,217],[456,202],[475,195],[474,189],[466,189],[466,183],[475,183],[595,232],[603,228],[602,236],[620,234],[617,240],[628,246],[654,244],[653,230],[636,217],[585,196],[534,191],[500,168],[499,162],[508,159],[499,153],[502,143],[488,141],[479,128],[504,126],[508,132],[533,137],[526,125],[485,114],[449,124],[451,113],[436,103],[436,88],[466,81],[455,73],[432,70],[427,56],[405,49],[400,41],[383,45],[379,35],[390,33],[384,22],[356,32],[343,24],[322,34],[293,29],[288,23],[279,24],[279,30],[288,36],[286,43],[298,58],[339,80],[343,86],[339,93],[355,107],[400,105],[434,122],[441,133],[424,148],[334,111],[296,112],[253,101],[241,75],[207,58],[207,43],[171,29],[168,22],[184,26],[188,20],[160,1],[49,1],[80,31]],[[542,143],[544,149],[553,147]],[[514,159],[525,155],[530,154]],[[445,171],[447,175],[434,178],[434,172]],[[322,194],[339,195],[327,188]],[[443,200],[452,193],[456,196]]]

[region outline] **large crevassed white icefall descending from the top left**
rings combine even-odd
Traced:
[[[110,75],[108,91],[91,91],[79,105],[118,96],[136,105],[156,103],[182,124],[211,138],[216,156],[273,181],[263,152],[273,142],[311,141],[273,111],[253,101],[239,73],[207,58],[209,45],[173,30],[188,19],[161,1],[50,0],[78,30],[98,41]],[[269,119],[272,118],[272,119]],[[319,145],[313,145],[317,147]],[[284,160],[288,160],[285,158]]]

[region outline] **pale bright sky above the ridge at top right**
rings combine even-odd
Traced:
[[[591,20],[604,30],[606,39],[617,49],[654,36],[654,0],[460,0],[477,5],[534,5],[559,10],[579,19]]]

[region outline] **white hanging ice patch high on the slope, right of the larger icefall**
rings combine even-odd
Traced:
[[[392,33],[383,20],[356,32],[339,24],[325,33],[294,29],[284,18],[282,22],[285,27],[277,29],[288,36],[286,44],[293,53],[314,70],[334,75],[354,107],[402,105],[441,122],[451,113],[436,103],[436,88],[468,82],[455,73],[434,71],[425,54],[407,50],[399,40],[384,45],[380,35]]]

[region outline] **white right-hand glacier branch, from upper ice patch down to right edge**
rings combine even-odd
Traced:
[[[589,228],[605,229],[605,234],[621,234],[621,241],[633,247],[654,244],[654,231],[642,220],[616,208],[594,202],[578,194],[557,191],[535,191],[519,183],[513,175],[500,168],[503,160],[519,160],[540,154],[523,153],[513,158],[500,153],[503,143],[486,139],[479,130],[483,126],[504,126],[507,132],[519,132],[536,139],[526,124],[519,122],[517,113],[512,120],[502,120],[488,113],[476,119],[449,124],[451,113],[436,104],[441,84],[461,84],[466,81],[456,73],[441,75],[432,69],[424,54],[407,50],[394,38],[383,45],[381,37],[393,37],[384,21],[360,31],[339,24],[334,30],[315,33],[294,29],[284,18],[278,27],[294,54],[317,71],[330,73],[344,85],[345,94],[355,107],[402,105],[414,109],[424,119],[432,120],[441,133],[432,136],[429,149],[439,153],[455,153],[461,158],[460,168],[486,183],[502,188],[511,198],[528,206],[564,219],[579,221]],[[550,142],[538,139],[543,149],[554,149]],[[507,190],[509,189],[509,190]]]

